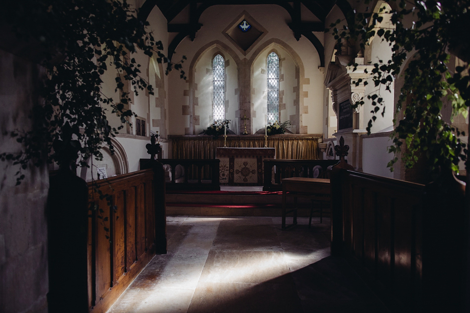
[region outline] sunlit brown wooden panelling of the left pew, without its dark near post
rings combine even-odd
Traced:
[[[88,299],[93,313],[106,312],[156,251],[166,252],[166,246],[159,246],[166,239],[158,238],[164,233],[158,221],[164,217],[164,207],[156,208],[155,201],[164,194],[155,193],[151,169],[98,180],[97,184],[103,194],[111,196],[115,207],[100,199],[89,184],[90,203],[98,205],[88,230]]]

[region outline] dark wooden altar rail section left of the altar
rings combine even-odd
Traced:
[[[149,161],[140,159],[141,169],[147,168]],[[169,165],[165,166],[166,190],[220,190],[219,159],[163,158],[158,161]]]

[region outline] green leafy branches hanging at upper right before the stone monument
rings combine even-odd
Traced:
[[[354,12],[348,16],[347,25],[337,27],[341,22],[338,20],[329,25],[326,32],[332,31],[339,53],[345,44],[353,47],[358,43],[364,50],[376,36],[375,40],[390,45],[393,52],[391,61],[378,60],[373,64],[372,83],[377,88],[384,85],[390,91],[395,78],[405,68],[402,72],[404,84],[396,104],[398,122],[394,120],[394,145],[389,148],[389,152],[394,153],[388,164],[391,170],[399,159],[411,168],[421,155],[427,159],[434,175],[439,175],[444,169],[458,172],[459,161],[467,160],[468,150],[461,139],[465,130],[445,122],[441,109],[445,100],[451,104],[453,116],[463,114],[466,117],[470,106],[470,38],[464,31],[470,19],[468,1],[387,2],[394,9],[381,6],[373,12],[368,7],[366,12]],[[380,24],[385,15],[390,18],[392,27]],[[455,71],[449,68],[451,54],[461,60]],[[367,81],[359,79],[355,82],[356,85],[361,83],[366,85]],[[385,106],[380,94],[366,96],[374,107],[367,126],[370,133],[376,115],[381,112],[383,116]],[[353,107],[363,104],[364,99],[360,99]]]

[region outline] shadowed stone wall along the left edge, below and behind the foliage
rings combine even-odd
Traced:
[[[40,68],[0,49],[0,153],[18,152],[7,130],[28,130]],[[0,162],[0,312],[47,312],[46,166],[23,170]]]

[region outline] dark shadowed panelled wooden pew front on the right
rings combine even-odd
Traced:
[[[424,186],[332,173],[331,254],[344,256],[393,312],[463,312],[468,225],[459,189],[455,180]]]

